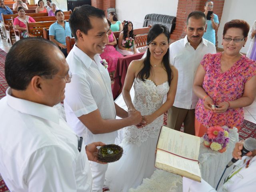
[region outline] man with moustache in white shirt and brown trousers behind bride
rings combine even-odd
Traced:
[[[185,26],[186,36],[170,45],[170,62],[178,69],[179,78],[173,106],[168,110],[167,126],[195,134],[195,107],[198,98],[192,90],[194,76],[203,56],[216,53],[214,44],[202,38],[206,32],[206,16],[194,11],[188,15]]]

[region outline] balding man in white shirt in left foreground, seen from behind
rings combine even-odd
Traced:
[[[44,39],[19,40],[6,56],[5,74],[10,88],[0,100],[0,173],[10,191],[90,192],[88,159],[97,161],[96,147],[104,144],[85,147],[52,107],[71,79],[62,52]]]

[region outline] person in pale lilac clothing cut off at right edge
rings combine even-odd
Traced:
[[[250,40],[250,47],[246,54],[246,57],[256,61],[256,20],[253,22],[252,27],[249,31],[248,37]]]

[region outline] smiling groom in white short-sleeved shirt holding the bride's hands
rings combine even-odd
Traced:
[[[109,26],[104,11],[80,6],[70,15],[69,24],[76,44],[66,58],[73,74],[64,100],[67,122],[84,137],[85,144],[92,141],[113,144],[118,129],[140,124],[142,116],[138,111],[127,113],[114,103],[108,70],[100,63],[99,56],[108,44]],[[115,119],[116,115],[122,119]],[[108,165],[90,164],[92,190],[102,192]]]

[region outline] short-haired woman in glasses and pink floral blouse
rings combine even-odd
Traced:
[[[256,62],[240,53],[249,29],[244,20],[227,22],[222,39],[224,52],[206,54],[198,67],[193,86],[199,97],[195,112],[196,136],[202,136],[208,126],[239,129],[244,120],[243,107],[254,101]]]

